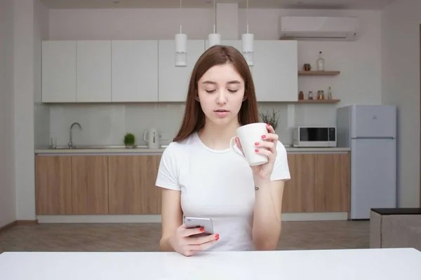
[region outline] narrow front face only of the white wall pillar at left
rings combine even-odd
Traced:
[[[16,218],[34,220],[34,0],[13,2]]]

